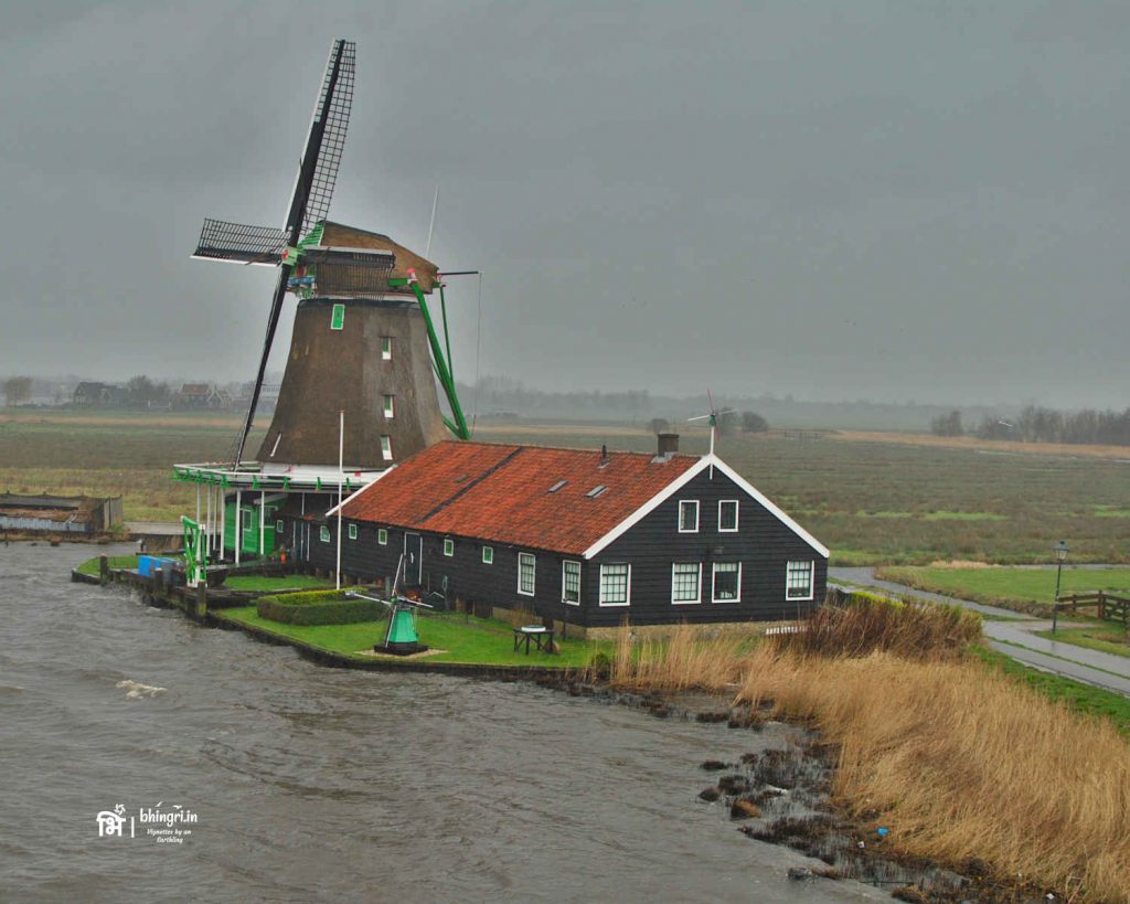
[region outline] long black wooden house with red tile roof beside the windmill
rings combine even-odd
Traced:
[[[824,598],[828,550],[713,455],[443,442],[341,506],[341,571],[585,627],[780,620]],[[278,515],[336,565],[337,510]]]

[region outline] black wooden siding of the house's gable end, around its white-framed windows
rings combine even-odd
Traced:
[[[681,499],[698,502],[697,533],[678,530]],[[739,501],[737,532],[718,529],[721,499]],[[790,559],[816,564],[811,600],[785,599]],[[620,562],[632,565],[631,605],[599,606],[600,565]],[[671,565],[676,562],[702,563],[699,602],[671,602]],[[715,562],[741,563],[740,601],[711,601]],[[715,469],[711,479],[707,469],[585,563],[581,591],[585,624],[618,625],[625,616],[637,625],[797,618],[824,600],[827,565],[826,558],[730,478]]]

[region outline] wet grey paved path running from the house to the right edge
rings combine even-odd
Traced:
[[[880,581],[875,576],[872,568],[828,568],[828,580],[833,583],[873,586],[877,590],[886,590],[888,593],[916,597],[933,602],[947,602],[973,609],[982,615],[1015,619],[1010,621],[986,620],[984,623],[984,633],[993,650],[1005,653],[1025,666],[1063,675],[1077,681],[1086,681],[1089,685],[1130,697],[1130,657],[1118,657],[1098,650],[1087,650],[1071,643],[1060,643],[1035,636],[1037,632],[1051,628],[1051,621],[1046,619],[1031,618],[1022,612],[1014,612],[1011,609],[984,606],[957,597],[929,593],[892,581]]]

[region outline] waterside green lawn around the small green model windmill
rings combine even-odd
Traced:
[[[359,653],[372,650],[384,638],[386,621],[362,621],[353,625],[284,625],[260,618],[253,606],[226,609],[224,616],[245,625],[262,628],[282,637],[293,637],[334,653],[365,659]],[[473,662],[484,666],[586,666],[593,653],[610,651],[611,644],[597,641],[558,641],[562,652],[557,655],[538,653],[529,655],[514,652],[510,625],[490,618],[467,618],[462,615],[435,615],[418,621],[420,642],[443,653],[427,657],[427,662]],[[420,661],[420,660],[415,660]]]

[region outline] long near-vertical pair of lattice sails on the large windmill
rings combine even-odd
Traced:
[[[287,214],[285,237],[288,245],[296,245],[305,231],[315,223],[325,219],[330,212],[333,186],[338,179],[338,166],[341,163],[341,151],[345,148],[346,130],[349,128],[356,55],[357,45],[345,38],[334,41],[330,49],[325,78],[314,105],[314,118],[310,123],[306,150],[302,155],[298,177],[295,180],[290,209]],[[275,286],[275,295],[267,316],[267,334],[263,338],[259,372],[255,374],[255,385],[251,391],[247,417],[243,423],[243,431],[235,451],[236,468],[240,467],[240,461],[243,459],[243,449],[247,443],[247,434],[251,432],[251,424],[255,418],[255,407],[259,405],[259,393],[263,388],[267,359],[270,357],[279,314],[282,312],[282,299],[286,296],[290,270],[289,264],[281,264],[279,279]]]

